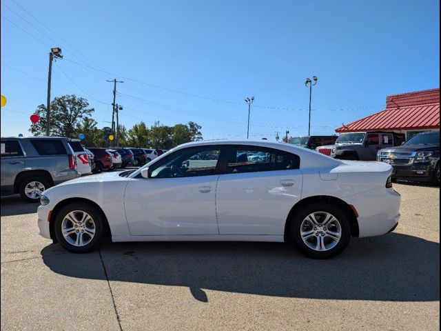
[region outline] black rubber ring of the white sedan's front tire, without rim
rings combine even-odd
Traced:
[[[66,214],[69,212],[72,212],[74,210],[81,210],[83,212],[87,212],[95,223],[95,235],[88,243],[88,245],[82,246],[82,247],[76,247],[74,245],[71,245],[68,243],[68,241],[65,240],[63,237],[63,234],[61,232],[61,223],[63,222],[63,219]],[[57,237],[58,242],[60,245],[63,246],[66,250],[74,253],[86,253],[90,252],[94,249],[96,249],[99,244],[101,243],[103,239],[103,234],[105,231],[105,225],[103,222],[103,217],[101,216],[101,213],[96,210],[96,208],[92,205],[89,205],[88,203],[70,203],[68,205],[65,205],[61,210],[57,213],[57,217],[54,220],[54,233],[55,237]]]

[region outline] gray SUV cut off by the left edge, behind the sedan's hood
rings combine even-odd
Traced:
[[[1,195],[39,202],[44,190],[79,177],[67,138],[1,138]]]

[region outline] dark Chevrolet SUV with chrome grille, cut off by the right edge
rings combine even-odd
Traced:
[[[393,179],[440,185],[440,132],[421,132],[402,146],[380,150],[377,161],[392,165]]]

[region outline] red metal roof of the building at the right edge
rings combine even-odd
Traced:
[[[404,132],[413,134],[440,130],[440,89],[393,94],[386,98],[386,109],[336,129],[336,132]]]

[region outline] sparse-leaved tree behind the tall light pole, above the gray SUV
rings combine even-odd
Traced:
[[[76,97],[75,94],[56,97],[50,103],[50,135],[73,138],[75,129],[81,119],[89,117],[94,108],[88,108],[86,99]],[[43,135],[46,132],[46,106],[40,105],[35,111],[40,120],[32,124],[30,132],[35,135]]]

